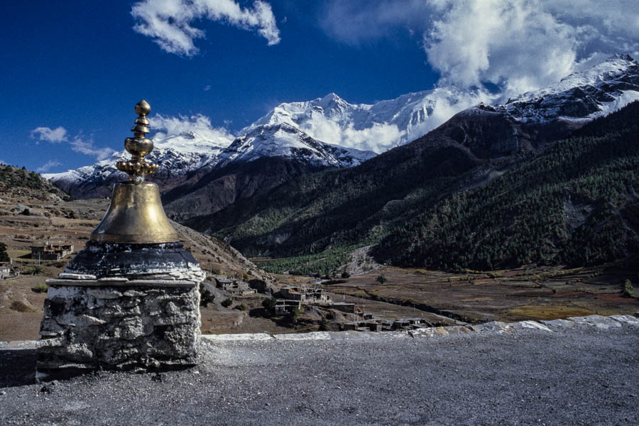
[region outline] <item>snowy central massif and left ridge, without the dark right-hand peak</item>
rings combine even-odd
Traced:
[[[192,187],[193,180],[214,168],[275,157],[309,170],[353,167],[376,155],[373,151],[406,143],[440,124],[447,117],[437,115],[438,105],[459,110],[471,104],[469,99],[475,98],[456,89],[434,89],[376,104],[349,104],[336,94],[280,104],[233,141],[208,140],[194,131],[156,139],[148,158],[160,163],[160,170],[149,180],[166,192],[186,180]],[[116,152],[93,165],[45,177],[77,198],[107,197],[122,177],[114,164],[123,157],[128,157],[125,151]]]

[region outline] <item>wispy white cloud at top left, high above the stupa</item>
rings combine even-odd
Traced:
[[[133,4],[131,15],[136,19],[133,30],[153,38],[168,53],[193,56],[199,50],[196,38],[204,31],[192,26],[194,21],[228,23],[244,30],[256,30],[268,45],[280,42],[271,4],[255,0],[252,8],[243,8],[234,0],[143,0]]]

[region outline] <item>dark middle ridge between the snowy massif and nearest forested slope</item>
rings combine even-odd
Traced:
[[[305,175],[188,226],[249,255],[290,256],[373,242],[425,205],[486,178],[464,146],[424,137],[356,168]]]

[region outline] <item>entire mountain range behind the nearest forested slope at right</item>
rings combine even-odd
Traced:
[[[425,202],[490,185],[639,99],[639,65],[614,55],[550,87],[464,109],[480,98],[439,88],[373,105],[336,94],[280,104],[228,145],[192,132],[155,141],[153,180],[170,217],[251,255],[388,242]],[[461,111],[441,124],[451,108]],[[107,196],[122,155],[47,177],[75,197]]]

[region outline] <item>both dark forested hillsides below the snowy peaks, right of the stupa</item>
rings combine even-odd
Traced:
[[[493,158],[436,130],[190,226],[249,256],[373,244],[378,261],[400,266],[611,261],[639,251],[637,117],[631,104],[571,138]],[[501,143],[496,133],[482,137]]]

